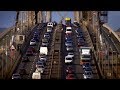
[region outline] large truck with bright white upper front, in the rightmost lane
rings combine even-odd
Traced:
[[[91,62],[92,47],[80,47],[80,63]]]

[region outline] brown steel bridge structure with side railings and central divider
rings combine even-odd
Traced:
[[[52,11],[16,11],[15,25],[0,34],[0,79],[12,79],[14,73],[20,74],[22,79],[32,79],[36,70],[36,62],[39,60],[39,49],[42,39],[47,32],[47,23],[52,22]],[[74,61],[71,66],[74,69],[76,79],[84,79],[83,67],[80,64],[80,53],[76,28],[83,32],[86,46],[92,47],[91,68],[93,79],[119,79],[120,78],[120,38],[108,26],[107,11],[74,11],[74,21],[79,26],[73,28]],[[65,24],[62,21],[53,27],[50,34],[48,55],[42,79],[66,79],[65,56]],[[102,19],[101,19],[102,18]],[[29,57],[29,62],[23,62],[22,58],[27,54],[30,40],[35,32],[38,32],[38,42],[34,47],[35,52]],[[22,69],[22,70],[21,70]]]

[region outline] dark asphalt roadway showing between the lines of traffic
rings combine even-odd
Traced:
[[[45,32],[46,32],[46,28],[42,28],[41,34],[40,34],[40,41],[41,41],[41,39],[43,37],[43,34]],[[86,34],[86,32],[84,30],[83,30],[83,33],[84,33],[86,42],[89,43],[87,34]],[[62,62],[62,66],[63,66],[63,68],[62,68],[62,70],[63,70],[62,73],[63,74],[62,74],[62,78],[61,79],[65,79],[65,77],[66,77],[66,74],[65,74],[66,65],[64,64],[64,59],[65,59],[65,56],[67,55],[66,47],[65,47],[65,31],[63,31],[62,35],[63,35],[63,37],[62,37],[62,47],[63,48],[62,48],[62,56],[61,56],[62,61],[61,62]],[[53,38],[51,38],[51,39],[53,39]],[[79,56],[79,51],[78,51],[79,48],[77,47],[77,37],[76,37],[76,33],[75,33],[75,29],[74,28],[73,28],[72,39],[73,39],[73,42],[74,42],[74,53],[75,53],[75,59],[74,59],[74,63],[73,63],[72,66],[75,69],[76,78],[77,79],[83,79],[83,75],[82,75],[83,74],[83,69],[82,69],[82,66],[80,65],[80,56]],[[51,44],[52,44],[52,42],[51,42]],[[41,45],[41,42],[39,42],[37,44],[37,46],[35,46],[35,49],[38,50],[40,45]],[[49,46],[49,49],[50,49],[50,46]],[[25,52],[24,52],[24,54],[25,54]],[[22,78],[23,79],[31,79],[31,75],[35,71],[35,62],[38,60],[38,55],[39,55],[39,53],[35,53],[35,55],[30,56],[30,62],[27,62],[27,63],[20,62],[20,64],[18,65],[17,69],[15,70],[15,72],[19,72],[20,68],[24,67],[26,72],[27,72],[27,74],[26,75],[22,75]],[[46,66],[46,69],[45,69],[46,71],[48,70],[47,69],[48,65]],[[97,74],[97,69],[96,69],[96,65],[94,63],[94,60],[92,61],[92,71],[93,71],[93,78],[94,79],[98,79],[99,76]],[[45,79],[45,75],[44,74],[42,75],[42,79]]]

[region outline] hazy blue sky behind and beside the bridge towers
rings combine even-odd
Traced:
[[[59,22],[61,16],[72,18],[73,21],[73,12],[72,11],[53,11],[52,20]],[[0,11],[0,28],[8,28],[15,24],[15,11]],[[61,15],[61,16],[60,16]],[[108,23],[114,31],[120,28],[120,11],[109,11],[108,12]]]

